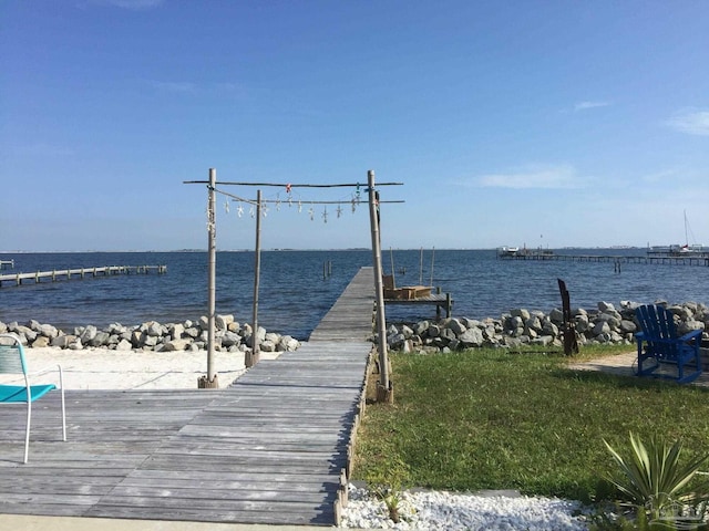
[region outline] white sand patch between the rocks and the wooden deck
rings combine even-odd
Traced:
[[[24,348],[28,368],[52,371],[33,376],[30,383],[59,384],[56,365],[62,366],[65,389],[196,389],[197,381],[207,373],[207,352],[111,351],[58,347]],[[277,353],[261,353],[260,358],[275,358]],[[215,352],[214,368],[219,387],[226,387],[244,374],[244,353]],[[0,375],[0,383],[21,383],[22,377]]]

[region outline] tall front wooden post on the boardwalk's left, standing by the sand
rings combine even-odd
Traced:
[[[197,379],[198,388],[215,388],[219,386],[214,368],[214,321],[216,308],[216,210],[215,188],[217,184],[217,170],[209,168],[209,185],[207,199],[207,375]]]

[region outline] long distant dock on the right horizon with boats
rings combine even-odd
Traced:
[[[709,252],[650,252],[638,256],[618,254],[558,254],[548,249],[497,250],[499,260],[557,261],[557,262],[612,262],[709,267]]]

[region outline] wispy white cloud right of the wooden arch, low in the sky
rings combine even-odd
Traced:
[[[481,186],[490,188],[579,188],[576,170],[572,166],[528,166],[516,171],[489,174],[477,177]]]

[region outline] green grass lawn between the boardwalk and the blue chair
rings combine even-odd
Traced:
[[[681,439],[687,457],[709,448],[709,389],[575,372],[569,360],[578,357],[393,353],[394,404],[367,408],[354,479],[589,502],[615,496],[604,479],[613,462],[603,439],[625,450],[629,431],[657,433]]]

